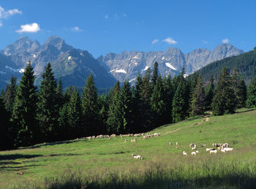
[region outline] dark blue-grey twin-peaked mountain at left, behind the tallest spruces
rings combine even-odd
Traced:
[[[2,67],[10,66],[12,74],[15,74],[18,80],[21,74],[15,71],[24,69],[26,63],[31,61],[37,85],[48,62],[53,64],[56,78],[62,77],[64,88],[69,85],[83,88],[89,74],[94,74],[97,88],[110,88],[116,82],[116,79],[100,66],[90,53],[67,45],[59,36],[50,36],[43,45],[36,40],[31,42],[26,36],[20,37],[12,45],[8,45],[0,55],[4,57],[0,57]],[[7,77],[10,80],[10,74],[3,77],[2,72],[5,71],[0,67],[0,88],[5,87]]]

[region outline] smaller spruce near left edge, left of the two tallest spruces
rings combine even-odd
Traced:
[[[4,104],[8,112],[12,112],[15,95],[17,90],[16,77],[11,77],[10,84],[7,85],[4,91]]]

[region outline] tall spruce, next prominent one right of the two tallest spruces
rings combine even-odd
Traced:
[[[86,135],[100,134],[99,104],[97,103],[97,88],[92,74],[87,77],[82,93],[83,130]]]

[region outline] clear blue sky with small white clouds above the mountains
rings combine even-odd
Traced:
[[[97,58],[125,51],[183,53],[230,43],[256,46],[255,0],[3,0],[0,50],[20,36],[60,36]]]

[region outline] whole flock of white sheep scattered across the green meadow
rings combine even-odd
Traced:
[[[114,137],[116,136],[119,136],[121,138],[123,137],[138,137],[138,136],[143,136],[142,139],[149,139],[151,137],[156,137],[156,136],[161,136],[161,134],[158,134],[158,133],[155,133],[155,134],[120,134],[120,135],[116,135],[116,134],[111,134],[111,135],[98,135],[98,136],[87,136],[87,137],[83,137],[82,139],[113,139]],[[77,139],[79,140],[79,139]],[[131,142],[136,142],[137,140],[135,138],[131,139]],[[128,142],[127,139],[124,139],[124,142]],[[173,142],[170,142],[169,143],[170,145],[173,145]],[[181,145],[176,142],[176,149],[179,149],[181,148]],[[203,147],[206,147],[206,144],[195,144],[195,143],[191,143],[189,144],[189,148],[191,148],[192,152],[191,152],[191,155],[192,156],[195,156],[197,155],[197,153],[200,153],[199,152],[199,147],[201,149],[203,149]],[[209,152],[210,154],[217,154],[219,152],[221,153],[227,153],[227,152],[233,152],[233,148],[230,147],[230,144],[228,143],[213,143],[212,144],[212,147],[211,148],[206,148],[206,152]],[[183,151],[183,155],[184,156],[187,156],[188,153],[186,151]],[[135,158],[135,159],[139,159],[139,160],[143,160],[143,157],[141,155],[136,155],[135,153],[132,154],[132,157]]]

